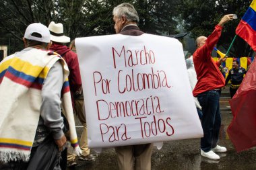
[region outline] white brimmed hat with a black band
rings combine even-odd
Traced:
[[[48,26],[48,29],[50,30],[52,41],[61,42],[61,43],[70,42],[70,38],[67,36],[64,36],[63,24],[61,23],[55,24],[55,22],[51,22]]]

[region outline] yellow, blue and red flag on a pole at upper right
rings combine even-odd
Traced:
[[[238,24],[236,34],[243,38],[256,51],[256,0],[253,0],[241,22]]]

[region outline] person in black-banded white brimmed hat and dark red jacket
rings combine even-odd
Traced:
[[[75,107],[75,99],[76,94],[81,93],[82,91],[82,81],[81,75],[79,71],[79,64],[77,54],[73,52],[69,47],[64,44],[70,42],[70,38],[64,35],[63,24],[55,22],[51,22],[49,24],[49,30],[51,33],[51,40],[53,44],[51,46],[51,50],[60,54],[64,60],[67,62],[67,66],[69,67],[69,84],[71,90],[71,98],[73,104],[73,110],[77,114],[80,122],[83,124],[84,128],[82,131],[82,135],[79,141],[79,146],[82,149],[82,155],[78,158],[81,161],[92,161],[92,156],[90,155],[90,149],[88,148],[88,138],[87,138],[87,126],[86,126],[86,118],[84,112],[82,110],[77,110]],[[77,106],[77,104],[76,104]],[[76,156],[73,153],[70,153],[68,150],[67,153],[67,166],[73,167],[77,165]]]

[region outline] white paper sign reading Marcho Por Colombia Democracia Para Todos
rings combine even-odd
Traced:
[[[174,38],[76,38],[90,148],[199,138],[182,44]]]

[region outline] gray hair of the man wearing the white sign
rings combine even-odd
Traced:
[[[128,22],[139,22],[139,15],[130,3],[121,3],[113,9],[113,15],[117,17],[125,16]]]

